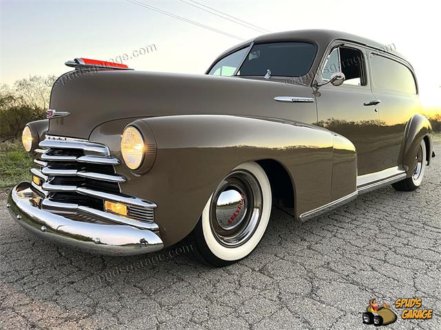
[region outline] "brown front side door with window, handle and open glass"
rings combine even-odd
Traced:
[[[351,43],[334,43],[320,65],[316,91],[317,121],[356,146],[358,176],[378,170],[378,107],[370,87],[366,51]],[[331,74],[342,72],[340,86],[329,83]]]

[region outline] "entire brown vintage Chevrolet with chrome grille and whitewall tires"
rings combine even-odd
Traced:
[[[23,131],[35,168],[8,207],[88,252],[143,254],[192,234],[227,265],[256,248],[272,203],[305,221],[384,185],[414,190],[434,157],[431,125],[392,48],[327,30],[268,34],[205,75],[76,58],[49,119]]]

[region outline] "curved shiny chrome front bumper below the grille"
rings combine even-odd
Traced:
[[[43,239],[96,254],[134,255],[163,248],[152,230],[71,220],[39,208],[39,198],[30,183],[22,182],[12,188],[8,208],[15,221]]]

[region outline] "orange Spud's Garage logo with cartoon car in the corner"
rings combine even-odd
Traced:
[[[417,319],[427,320],[432,318],[432,309],[420,309],[422,306],[421,298],[398,298],[393,306],[396,309],[403,309],[401,318],[403,320]],[[375,299],[369,300],[369,305],[363,313],[363,323],[365,325],[390,325],[397,320],[397,315],[391,310],[387,303],[380,304]]]

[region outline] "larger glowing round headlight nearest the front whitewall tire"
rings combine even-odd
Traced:
[[[121,153],[125,165],[131,170],[136,170],[143,163],[145,144],[143,135],[133,126],[128,126],[121,137]]]

